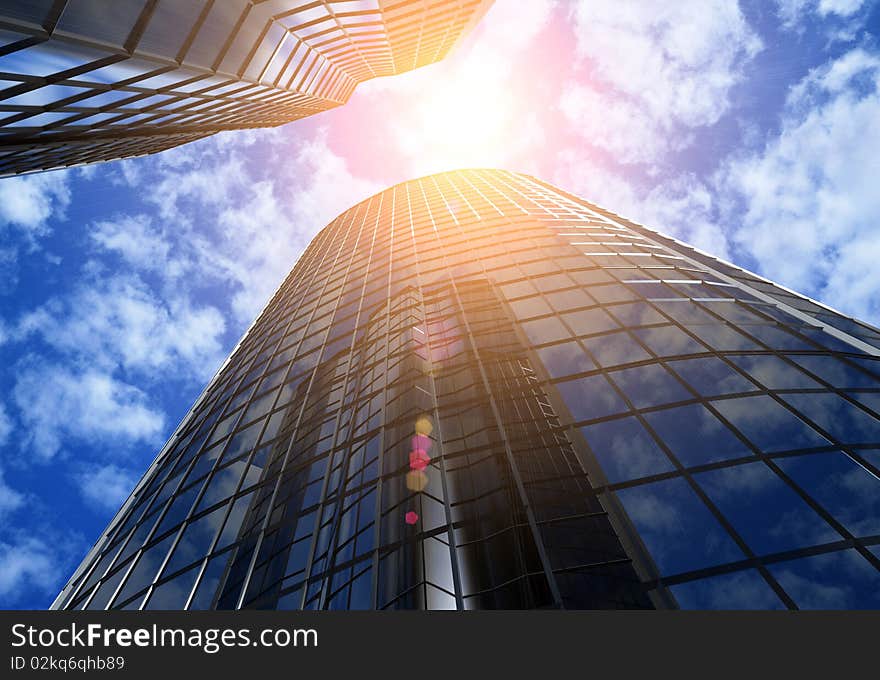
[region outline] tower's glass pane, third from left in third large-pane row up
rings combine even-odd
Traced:
[[[810,395],[810,398],[815,396]],[[713,401],[712,405],[763,451],[790,451],[829,443],[800,418],[765,395]]]

